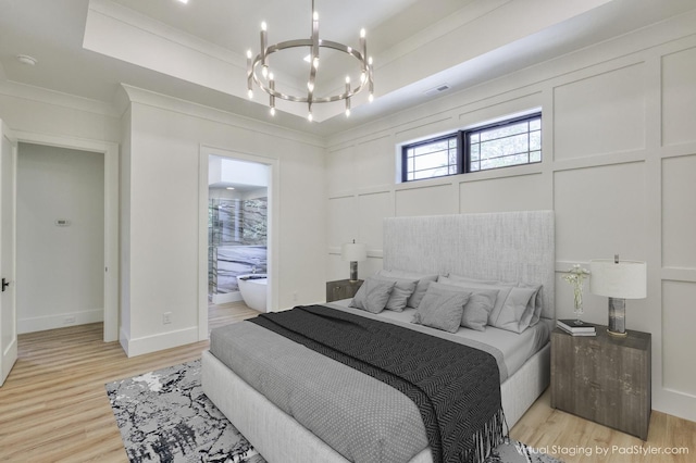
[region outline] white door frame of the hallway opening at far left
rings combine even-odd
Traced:
[[[119,143],[13,130],[18,143],[44,145],[104,157],[104,342],[119,340]],[[16,198],[15,198],[16,201]],[[16,245],[15,245],[16,251]],[[16,321],[15,321],[16,324]]]

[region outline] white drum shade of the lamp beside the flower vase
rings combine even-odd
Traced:
[[[647,295],[645,262],[597,259],[589,261],[589,291],[619,299],[643,299]]]

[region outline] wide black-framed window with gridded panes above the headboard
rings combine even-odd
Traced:
[[[401,162],[402,182],[542,162],[542,114],[407,145]]]

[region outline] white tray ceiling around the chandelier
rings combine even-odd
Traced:
[[[458,91],[694,9],[696,0],[316,0],[322,38],[357,46],[368,29],[376,98],[355,102],[349,120],[327,103],[338,109],[310,124],[304,109],[272,118],[268,100],[245,97],[245,53],[258,52],[261,21],[271,42],[309,38],[310,0],[0,0],[0,80],[108,104],[127,84],[331,135],[442,97],[424,93],[440,84]],[[184,43],[188,54],[157,43]],[[322,62],[333,78],[331,67]]]

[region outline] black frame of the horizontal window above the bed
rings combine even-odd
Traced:
[[[539,155],[542,158],[540,161],[533,161],[533,162],[526,162],[523,164],[511,164],[511,165],[501,165],[499,167],[490,167],[490,168],[478,168],[476,171],[472,171],[471,170],[471,136],[474,134],[480,134],[486,130],[489,130],[492,128],[496,128],[496,127],[504,127],[507,125],[514,125],[514,124],[519,124],[520,122],[524,122],[524,121],[532,121],[538,118],[539,123],[543,123],[543,114],[542,111],[535,111],[533,113],[529,113],[529,114],[524,114],[524,115],[520,115],[520,116],[513,116],[513,117],[508,117],[508,118],[504,118],[500,120],[498,122],[494,122],[490,124],[485,124],[485,125],[480,125],[480,126],[473,126],[473,127],[469,127],[462,130],[457,130],[453,133],[449,133],[449,134],[445,134],[445,135],[440,135],[437,137],[433,137],[433,138],[428,138],[425,140],[420,140],[420,141],[415,141],[413,143],[407,143],[407,145],[402,145],[401,146],[401,183],[407,183],[407,182],[418,182],[418,180],[427,180],[427,179],[432,179],[432,178],[442,178],[442,177],[448,177],[451,175],[462,175],[462,174],[470,174],[470,173],[477,173],[477,172],[487,172],[487,171],[497,171],[499,168],[507,168],[507,167],[515,167],[515,166],[520,166],[520,165],[530,165],[530,164],[538,164],[543,161],[543,150],[539,149]],[[539,130],[543,129],[543,124]],[[527,129],[527,134],[529,134],[529,129]],[[542,132],[542,136],[543,136],[543,132]],[[425,177],[425,178],[414,178],[414,179],[408,179],[409,176],[409,170],[408,170],[408,150],[410,149],[414,149],[421,146],[425,146],[425,145],[431,145],[431,143],[436,143],[438,141],[443,141],[443,140],[450,140],[452,138],[456,138],[457,140],[457,165],[456,165],[456,173],[453,174],[444,174],[444,175],[437,175],[434,177]],[[448,164],[449,165],[449,164]]]

